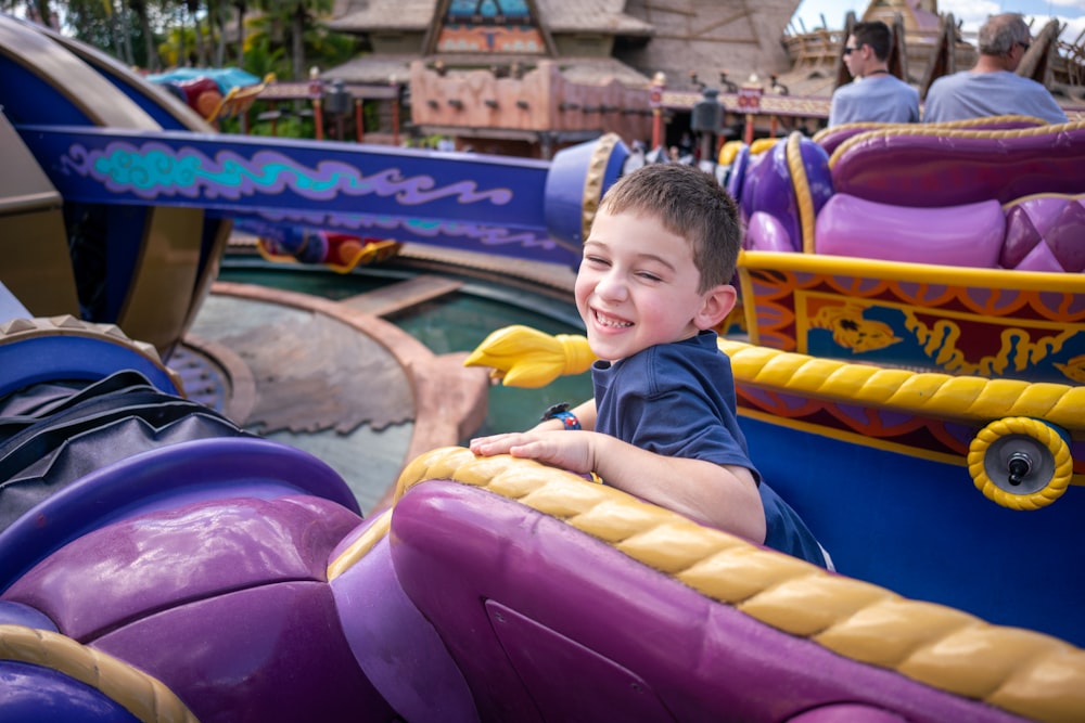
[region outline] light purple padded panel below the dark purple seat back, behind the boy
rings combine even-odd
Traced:
[[[909,208],[838,193],[817,217],[814,248],[829,256],[996,268],[1005,230],[997,201]]]

